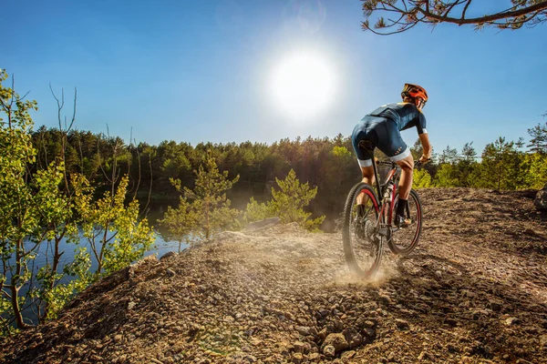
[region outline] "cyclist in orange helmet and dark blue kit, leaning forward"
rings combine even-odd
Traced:
[[[363,117],[353,130],[352,143],[363,172],[363,182],[370,186],[374,186],[375,183],[372,167],[375,147],[401,167],[395,225],[408,227],[410,220],[404,217],[404,211],[412,187],[414,159],[410,148],[403,141],[400,131],[413,126],[418,129],[419,140],[423,148],[423,154],[419,158],[420,163],[427,163],[430,160],[431,145],[426,130],[426,116],[421,112],[428,102],[428,93],[421,86],[405,84],[401,97],[403,98],[402,103],[380,106]]]

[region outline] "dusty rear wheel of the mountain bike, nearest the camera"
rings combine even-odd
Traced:
[[[344,207],[344,255],[349,268],[361,277],[371,277],[382,260],[382,239],[377,234],[378,202],[372,187],[352,187]]]

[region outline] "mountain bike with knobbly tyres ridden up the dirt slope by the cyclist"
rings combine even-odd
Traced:
[[[376,274],[386,243],[394,254],[410,254],[418,245],[422,227],[422,208],[414,189],[410,190],[405,211],[405,216],[411,221],[410,225],[395,226],[401,169],[394,162],[372,160],[377,190],[364,182],[351,188],[344,207],[342,231],[346,262],[353,272],[364,278]],[[389,167],[383,183],[380,183],[377,165]],[[421,164],[415,162],[415,167],[419,166]],[[380,196],[381,199],[378,198]]]

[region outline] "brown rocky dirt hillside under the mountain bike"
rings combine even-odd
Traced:
[[[387,253],[371,282],[349,274],[340,234],[225,232],[103,279],[0,342],[0,361],[547,363],[547,215],[533,196],[420,190],[417,250]]]

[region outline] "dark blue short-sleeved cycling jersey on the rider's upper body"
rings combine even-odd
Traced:
[[[368,114],[369,116],[385,117],[397,123],[397,128],[406,130],[416,126],[418,134],[424,134],[426,130],[426,116],[412,103],[387,104],[378,107]]]

